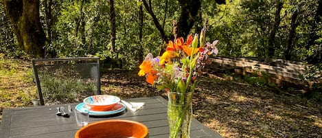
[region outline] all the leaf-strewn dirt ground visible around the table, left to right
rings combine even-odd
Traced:
[[[19,93],[36,93],[32,80],[20,80],[23,75],[19,72],[32,75],[27,71],[31,66],[21,66],[19,62],[16,67],[21,69],[16,71],[10,67],[12,75],[0,76],[0,113],[3,108],[32,106],[31,102],[18,102],[28,99]],[[101,83],[103,94],[122,98],[154,95],[167,98],[163,91],[146,83],[144,77],[137,76],[137,71],[108,71],[102,74]],[[322,103],[254,87],[242,80],[201,76],[193,110],[196,119],[222,137],[322,137]]]

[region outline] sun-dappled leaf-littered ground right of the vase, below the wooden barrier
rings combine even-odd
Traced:
[[[195,117],[223,137],[315,137],[322,133],[321,119],[308,117],[318,109],[297,106],[301,102],[292,97],[231,80],[203,81],[196,89]]]

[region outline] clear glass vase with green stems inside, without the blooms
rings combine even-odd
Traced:
[[[193,92],[168,92],[169,138],[189,138]]]

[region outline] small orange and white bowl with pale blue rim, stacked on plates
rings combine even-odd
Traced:
[[[93,95],[86,97],[83,102],[91,107],[91,111],[108,111],[119,103],[121,99],[113,95]]]

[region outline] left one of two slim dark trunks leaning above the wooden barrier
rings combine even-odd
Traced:
[[[283,2],[277,0],[273,29],[271,30],[271,34],[268,37],[268,57],[270,58],[272,58],[275,54],[275,34],[279,29],[279,23],[281,23],[281,8],[283,8]]]

